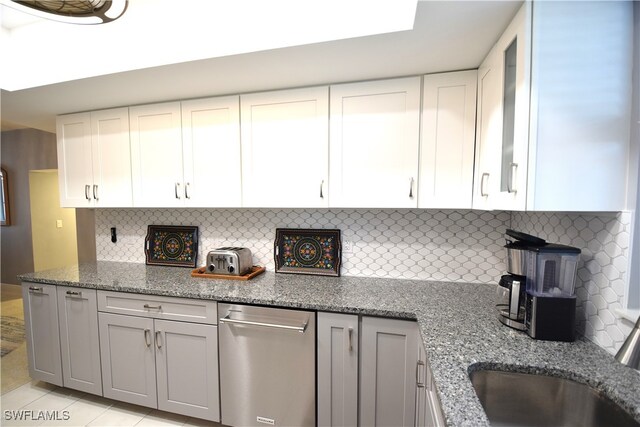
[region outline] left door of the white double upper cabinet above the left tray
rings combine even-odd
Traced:
[[[129,108],[135,207],[184,204],[180,102]]]

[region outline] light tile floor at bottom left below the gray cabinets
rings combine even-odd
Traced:
[[[40,381],[31,381],[2,395],[0,408],[2,426],[222,427],[211,421],[117,402]],[[20,415],[22,419],[18,419]],[[57,415],[57,419],[43,419],[47,415]]]

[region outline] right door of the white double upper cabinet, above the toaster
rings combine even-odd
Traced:
[[[185,205],[242,203],[239,97],[182,102]]]

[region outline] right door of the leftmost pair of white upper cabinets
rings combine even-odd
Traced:
[[[131,144],[129,109],[91,112],[91,152],[95,206],[131,207]]]

